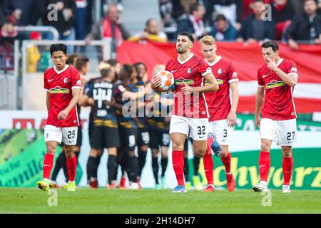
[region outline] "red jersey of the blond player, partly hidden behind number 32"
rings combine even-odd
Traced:
[[[238,81],[238,73],[232,63],[221,56],[214,63],[208,63],[220,87],[218,91],[205,93],[210,121],[224,120],[230,113],[230,83]]]

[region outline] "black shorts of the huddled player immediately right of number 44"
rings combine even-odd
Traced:
[[[135,150],[138,142],[138,128],[126,128],[119,125],[119,138],[121,139],[121,147],[126,150]]]

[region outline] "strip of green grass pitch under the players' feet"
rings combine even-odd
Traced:
[[[52,195],[48,192],[36,188],[0,188],[0,213],[321,213],[321,191],[292,190],[282,194],[281,190],[272,190],[270,196],[252,190],[190,190],[186,194],[170,191],[58,189],[58,205],[50,207]],[[272,205],[263,206],[263,202]]]

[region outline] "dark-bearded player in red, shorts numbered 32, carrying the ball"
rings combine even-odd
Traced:
[[[186,137],[193,138],[193,151],[195,156],[203,157],[211,148],[208,138],[208,107],[204,93],[218,90],[218,83],[213,76],[208,63],[199,56],[194,56],[190,49],[194,38],[190,33],[178,34],[176,51],[178,58],[171,59],[166,64],[166,71],[173,73],[175,79],[175,98],[173,113],[170,118],[170,138],[172,140],[173,169],[178,186],[173,192],[187,192],[184,182],[183,149]],[[204,81],[208,85],[204,85]],[[151,87],[159,90],[161,77],[153,76]],[[211,143],[210,143],[211,145]]]

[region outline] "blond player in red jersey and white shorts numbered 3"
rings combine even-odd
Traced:
[[[209,130],[215,135],[220,145],[221,159],[225,166],[227,187],[230,192],[235,190],[235,180],[230,170],[230,135],[236,123],[236,108],[238,107],[238,73],[232,63],[226,61],[216,54],[217,46],[213,36],[204,36],[200,39],[200,48],[204,54],[205,61],[212,68],[212,72],[218,81],[220,89],[212,93],[205,93],[210,113]],[[231,100],[230,100],[231,90]],[[204,169],[208,186],[205,192],[215,191],[213,182],[213,157],[209,151],[203,157]]]

